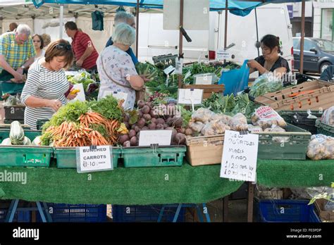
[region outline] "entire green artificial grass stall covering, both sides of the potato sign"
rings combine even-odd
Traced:
[[[237,191],[242,182],[219,177],[221,165],[168,168],[116,168],[78,174],[74,169],[1,167],[26,172],[27,183],[1,182],[1,199],[54,203],[147,205],[206,203]],[[266,187],[318,187],[334,182],[334,161],[259,160],[257,184]],[[91,178],[91,180],[89,180]]]

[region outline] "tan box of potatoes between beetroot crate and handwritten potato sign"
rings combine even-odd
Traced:
[[[224,134],[187,138],[186,159],[192,166],[221,164]]]

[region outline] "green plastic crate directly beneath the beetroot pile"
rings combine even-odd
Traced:
[[[125,168],[181,166],[185,146],[127,147],[122,149]]]

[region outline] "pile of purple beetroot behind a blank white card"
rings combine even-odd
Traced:
[[[177,106],[171,103],[166,106],[153,106],[151,102],[138,101],[138,109],[125,113],[123,122],[128,134],[120,135],[121,145],[138,146],[142,130],[172,130],[172,145],[185,144],[185,130],[182,129],[183,118],[175,113]]]

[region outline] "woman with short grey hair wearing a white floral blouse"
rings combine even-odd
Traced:
[[[97,58],[101,80],[98,99],[121,92],[126,97],[125,108],[135,106],[135,91],[143,89],[144,80],[126,53],[134,42],[135,29],[125,23],[118,24],[113,32],[113,45],[106,47]]]

